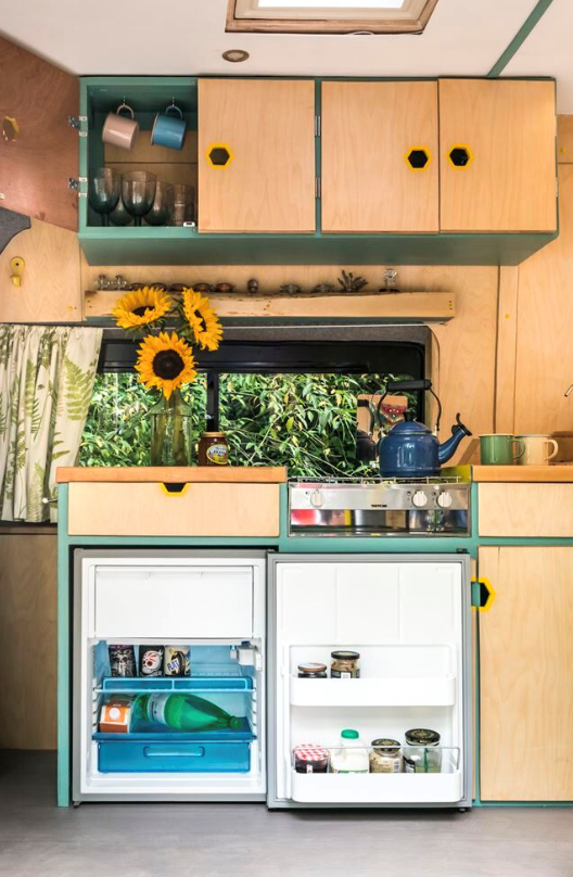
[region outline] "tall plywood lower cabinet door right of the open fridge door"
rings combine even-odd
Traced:
[[[573,548],[480,548],[484,801],[573,799]]]

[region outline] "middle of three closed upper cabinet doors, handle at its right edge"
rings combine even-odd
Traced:
[[[321,127],[323,231],[438,230],[437,82],[323,82]]]

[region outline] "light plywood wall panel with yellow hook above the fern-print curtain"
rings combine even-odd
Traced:
[[[74,231],[31,220],[0,253],[0,322],[71,322],[81,320],[80,250]],[[14,287],[10,260],[26,266]]]

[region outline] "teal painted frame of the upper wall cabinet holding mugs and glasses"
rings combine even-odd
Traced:
[[[270,78],[270,77],[264,77]],[[320,116],[322,79],[315,80],[316,116]],[[143,127],[151,127],[152,107],[171,98],[183,104],[190,128],[198,124],[195,77],[81,77],[79,131],[79,242],[91,265],[519,265],[555,240],[550,233],[324,234],[320,189],[313,234],[228,234],[196,228],[104,228],[88,223],[87,180],[103,162],[100,138],[104,112],[123,98],[139,103]],[[98,162],[98,158],[100,161]],[[320,126],[315,135],[316,176],[320,178]],[[557,175],[557,153],[556,153]],[[199,193],[201,204],[201,193]],[[201,206],[200,206],[201,209]]]

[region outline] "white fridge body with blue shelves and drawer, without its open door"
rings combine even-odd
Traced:
[[[255,552],[253,552],[255,554]],[[233,552],[76,552],[73,800],[265,800],[266,563]],[[191,675],[114,677],[109,647],[189,646]],[[102,733],[113,698],[188,694],[233,729]]]

